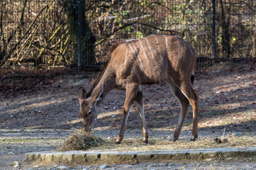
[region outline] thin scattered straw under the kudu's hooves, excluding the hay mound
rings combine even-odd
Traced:
[[[172,142],[168,139],[149,138],[149,144],[144,144],[142,138],[125,138],[121,145],[115,145],[114,139],[110,140],[108,145],[102,145],[94,149],[107,151],[156,151],[172,149],[208,149],[220,147],[256,147],[255,136],[249,135],[227,135],[218,137],[221,142],[216,142],[213,137],[201,137],[196,142],[188,140],[177,140]],[[228,141],[228,142],[227,142]]]

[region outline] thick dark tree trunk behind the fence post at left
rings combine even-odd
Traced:
[[[89,23],[86,21],[85,16],[85,0],[80,1],[81,11],[81,41],[80,41],[80,66],[85,67],[92,65],[96,62],[94,44],[95,36],[92,34]],[[65,13],[68,18],[68,31],[74,46],[73,64],[78,65],[78,0],[65,0],[64,3]]]

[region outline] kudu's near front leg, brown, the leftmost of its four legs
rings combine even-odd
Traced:
[[[127,120],[129,117],[129,113],[131,112],[132,104],[134,103],[135,98],[137,96],[138,88],[139,88],[139,84],[135,84],[135,83],[127,84],[126,97],[124,101],[124,119],[122,121],[119,135],[115,142],[116,144],[120,144],[124,139],[125,126],[127,125]]]

